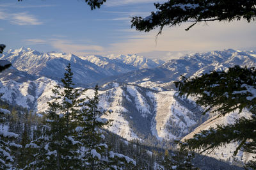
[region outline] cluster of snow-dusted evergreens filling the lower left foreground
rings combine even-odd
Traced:
[[[111,121],[100,116],[111,111],[99,111],[97,108],[98,87],[95,86],[93,98],[82,98],[86,89],[73,88],[72,75],[68,65],[65,77],[61,79],[64,89],[61,90],[61,86],[52,89],[45,122],[37,125],[40,133],[35,140],[27,140],[22,147],[22,144],[13,142],[18,135],[8,132],[10,127],[2,125],[1,169],[132,169],[136,166],[136,161],[111,151],[104,142],[102,127]],[[10,114],[7,109],[0,111],[1,114]],[[1,118],[4,121],[4,116]],[[28,156],[22,160],[24,167],[15,160],[17,148],[22,148],[19,151]]]

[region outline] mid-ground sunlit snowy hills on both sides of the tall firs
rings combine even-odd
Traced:
[[[1,81],[0,93],[10,104],[43,112],[56,84],[58,82],[46,77],[26,82]],[[113,120],[109,130],[129,140],[146,139],[150,135],[157,139],[180,139],[207,118],[198,114],[193,102],[177,98],[175,91],[116,83],[114,88],[101,90],[99,94],[99,107],[113,110],[105,116]],[[88,89],[84,97],[93,95],[93,89]]]

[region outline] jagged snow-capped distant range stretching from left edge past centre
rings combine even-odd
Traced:
[[[104,77],[118,75],[120,73],[138,70],[140,68],[152,68],[159,66],[163,61],[152,61],[144,57],[133,55],[130,58],[106,58],[102,56],[78,57],[74,54],[61,52],[42,53],[31,49],[9,50],[0,55],[0,59],[12,62],[17,70],[31,75],[44,76],[60,81],[68,63],[72,65],[74,81],[77,84],[97,82]],[[141,60],[142,58],[142,60]]]

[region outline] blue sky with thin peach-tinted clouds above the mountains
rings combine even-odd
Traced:
[[[78,56],[141,54],[175,58],[189,52],[256,50],[256,22],[191,23],[144,33],[131,28],[131,17],[147,17],[157,0],[107,0],[90,10],[83,0],[1,0],[0,43],[6,50],[29,47],[40,52]],[[167,1],[167,0],[165,0]],[[163,3],[164,0],[158,0]]]

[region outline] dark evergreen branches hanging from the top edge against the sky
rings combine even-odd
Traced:
[[[85,0],[91,9],[100,8],[106,0]],[[164,26],[180,26],[188,21],[194,22],[186,31],[198,22],[233,21],[246,19],[248,22],[256,19],[255,0],[169,0],[166,3],[155,3],[156,12],[148,17],[132,17],[132,27],[138,31],[151,31],[160,28],[161,34]]]

